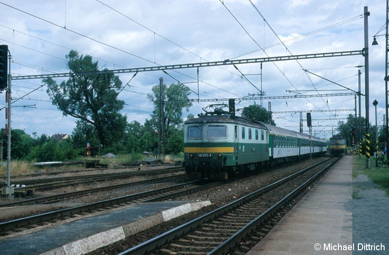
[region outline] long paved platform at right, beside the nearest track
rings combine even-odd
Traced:
[[[340,159],[247,255],[352,255],[352,169]]]

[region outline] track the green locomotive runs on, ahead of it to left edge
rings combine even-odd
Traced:
[[[202,184],[199,181],[191,181],[157,190],[140,192],[96,203],[91,203],[88,205],[71,207],[62,210],[33,215],[21,219],[16,219],[8,222],[3,222],[0,223],[0,236],[7,236],[23,230],[55,223],[65,219],[85,216],[94,212],[110,210],[118,207],[125,207],[134,203],[164,201],[203,189],[208,189],[219,184],[220,182]]]

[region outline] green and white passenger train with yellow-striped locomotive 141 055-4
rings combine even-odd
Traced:
[[[184,124],[182,164],[187,179],[226,179],[326,153],[323,139],[214,110]]]

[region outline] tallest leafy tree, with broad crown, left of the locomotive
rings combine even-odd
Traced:
[[[92,125],[97,131],[101,144],[109,146],[113,140],[109,134],[117,137],[123,134],[126,117],[120,114],[124,101],[119,100],[122,81],[108,70],[104,74],[79,75],[81,72],[99,71],[98,62],[92,62],[89,55],[79,55],[71,50],[66,56],[67,66],[73,76],[59,85],[51,78],[44,79],[47,93],[65,116],[70,115]]]

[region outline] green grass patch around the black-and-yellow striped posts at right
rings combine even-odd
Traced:
[[[378,184],[380,188],[386,191],[387,196],[389,196],[389,167],[388,166],[379,166],[375,167],[375,159],[370,158],[370,168],[366,168],[366,156],[362,155],[359,159],[358,155],[353,156],[353,178],[357,175],[363,174],[367,175],[371,181]],[[380,164],[378,164],[380,165]],[[354,197],[354,193],[353,193]]]

